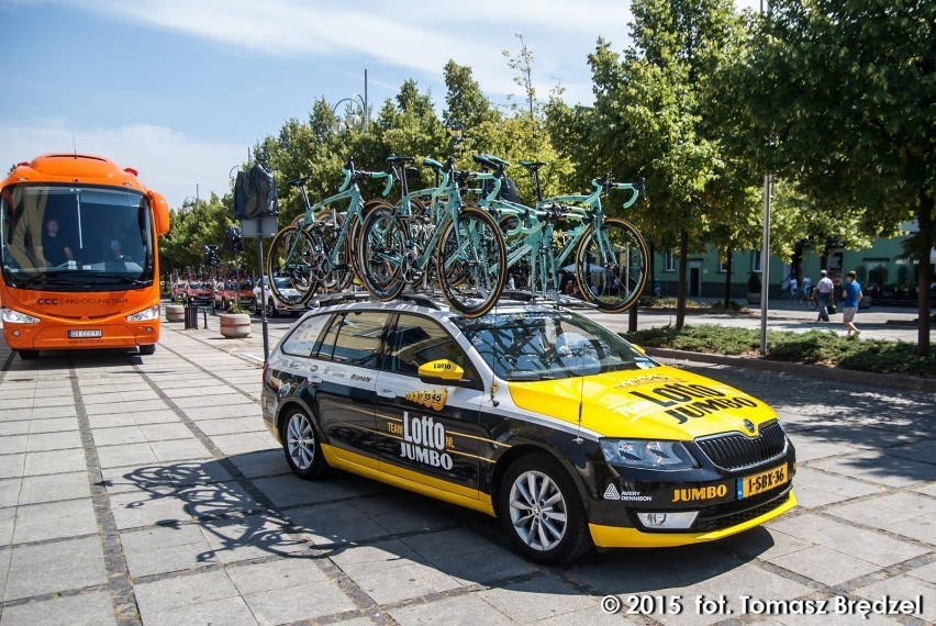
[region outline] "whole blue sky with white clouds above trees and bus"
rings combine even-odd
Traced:
[[[622,49],[629,21],[622,0],[0,0],[0,168],[77,147],[177,208],[223,195],[248,148],[316,98],[363,94],[365,68],[374,110],[408,78],[441,110],[449,58],[506,104],[501,51],[521,33],[538,94],[561,83],[588,103],[588,54],[598,37]]]

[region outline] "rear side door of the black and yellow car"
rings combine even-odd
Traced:
[[[376,311],[336,314],[308,372],[331,454],[370,468],[377,467],[374,394],[388,320]]]

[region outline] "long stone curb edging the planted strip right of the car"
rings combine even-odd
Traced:
[[[745,367],[760,371],[779,371],[783,373],[792,373],[795,376],[804,376],[809,378],[834,380],[837,382],[873,384],[893,387],[896,389],[907,389],[912,391],[924,391],[927,393],[936,393],[936,379],[932,378],[917,378],[912,376],[876,373],[870,371],[857,371],[824,366],[772,361],[769,359],[757,357],[733,357],[727,355],[690,353],[688,350],[673,350],[669,348],[645,347],[644,350],[651,357],[715,365],[727,365],[732,367]]]

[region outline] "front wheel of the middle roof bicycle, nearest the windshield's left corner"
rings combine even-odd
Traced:
[[[486,211],[463,209],[439,237],[436,264],[448,304],[466,317],[483,315],[504,288],[506,248],[500,226]]]

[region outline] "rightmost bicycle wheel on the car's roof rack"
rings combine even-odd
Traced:
[[[647,283],[647,244],[629,222],[605,219],[589,227],[576,253],[576,281],[582,298],[604,313],[637,302]]]

